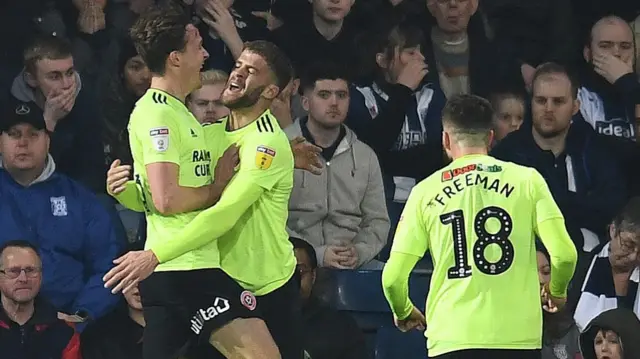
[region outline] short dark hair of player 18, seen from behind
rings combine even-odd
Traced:
[[[493,128],[493,108],[489,101],[475,95],[459,95],[447,101],[442,121],[463,135],[488,135]]]

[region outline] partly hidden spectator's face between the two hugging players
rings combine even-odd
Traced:
[[[229,114],[229,109],[222,104],[222,91],[229,75],[220,70],[209,70],[201,77],[202,86],[187,96],[186,105],[198,122],[213,123]]]

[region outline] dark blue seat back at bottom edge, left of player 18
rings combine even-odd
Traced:
[[[424,333],[407,333],[393,326],[378,329],[375,341],[375,359],[426,359],[427,346]]]

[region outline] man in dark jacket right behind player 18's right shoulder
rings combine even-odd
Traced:
[[[590,252],[605,238],[607,223],[622,207],[626,186],[607,148],[582,121],[577,85],[558,64],[541,65],[533,78],[533,124],[492,151],[496,158],[533,167],[545,178],[576,247]]]

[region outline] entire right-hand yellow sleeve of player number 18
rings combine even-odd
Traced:
[[[532,200],[535,203],[534,228],[551,259],[549,294],[556,298],[566,298],[569,282],[578,261],[578,253],[567,232],[560,208],[537,171],[534,171],[531,184]]]

